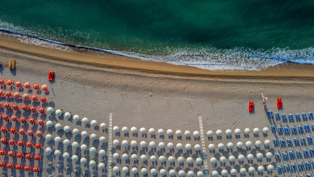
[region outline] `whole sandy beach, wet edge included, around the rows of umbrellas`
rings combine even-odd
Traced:
[[[119,126],[120,129],[124,126],[137,127],[138,130],[141,127],[145,127],[148,131],[149,128],[154,128],[157,132],[159,128],[163,128],[165,131],[167,129],[172,129],[174,132],[180,129],[182,132],[185,130],[190,130],[191,132],[197,130],[199,131],[198,116],[203,117],[203,127],[204,133],[208,130],[212,130],[214,133],[217,129],[223,131],[223,136],[221,139],[217,138],[214,134],[213,138],[206,138],[206,147],[213,143],[216,146],[215,152],[209,152],[207,149],[207,159],[209,173],[213,170],[219,171],[222,169],[236,168],[238,170],[237,176],[240,176],[239,169],[245,167],[248,169],[250,166],[256,168],[260,165],[273,164],[275,167],[284,164],[292,163],[304,163],[311,161],[312,156],[303,156],[301,158],[282,158],[276,161],[274,158],[271,161],[267,161],[264,157],[262,161],[258,161],[254,158],[252,162],[248,162],[247,159],[243,164],[236,160],[235,163],[231,164],[227,160],[225,165],[218,163],[216,166],[210,164],[209,159],[211,157],[216,157],[219,159],[221,156],[228,158],[231,154],[238,157],[239,153],[247,155],[252,153],[255,155],[258,152],[262,152],[264,155],[266,152],[270,151],[273,154],[289,151],[297,151],[311,149],[313,144],[300,144],[300,146],[274,146],[273,144],[269,149],[265,149],[262,145],[260,148],[255,148],[253,145],[251,149],[246,150],[245,146],[243,150],[237,150],[236,143],[242,141],[244,144],[246,141],[252,141],[254,143],[256,140],[264,142],[264,140],[273,140],[274,138],[280,139],[294,139],[300,138],[302,136],[307,137],[311,135],[311,131],[306,131],[301,134],[278,134],[278,132],[270,132],[268,136],[264,136],[262,133],[259,136],[253,136],[252,132],[249,137],[245,137],[243,132],[240,137],[227,138],[225,136],[225,130],[231,129],[234,131],[236,128],[240,128],[242,131],[245,128],[257,127],[261,130],[263,127],[270,128],[271,125],[276,125],[277,127],[293,127],[314,123],[312,119],[301,119],[300,122],[283,122],[282,120],[270,119],[266,116],[264,107],[259,101],[260,93],[264,93],[268,97],[267,107],[268,110],[273,110],[274,113],[277,112],[276,99],[277,97],[282,97],[283,99],[283,111],[279,111],[280,114],[295,114],[314,111],[314,82],[313,82],[313,66],[309,65],[294,65],[294,64],[284,64],[281,66],[271,67],[263,71],[208,71],[201,70],[190,66],[174,66],[165,63],[157,63],[150,61],[140,61],[135,59],[128,59],[126,57],[115,56],[111,54],[96,54],[93,52],[79,52],[73,49],[72,52],[58,51],[49,48],[43,48],[40,46],[34,46],[30,44],[24,44],[17,42],[17,39],[9,40],[9,37],[1,35],[0,40],[0,59],[2,65],[0,66],[0,72],[5,81],[8,79],[13,79],[15,81],[38,83],[39,85],[47,84],[49,93],[44,94],[41,92],[39,95],[46,95],[49,106],[56,109],[61,109],[63,112],[69,111],[72,115],[78,114],[80,118],[88,117],[89,120],[97,120],[98,125],[102,122],[109,124],[109,113],[113,113],[113,126]],[[14,57],[17,59],[16,70],[8,70],[8,58]],[[133,63],[133,64],[132,64]],[[105,67],[106,65],[112,65],[111,67]],[[160,69],[162,68],[162,69]],[[47,72],[49,69],[54,69],[56,77],[54,82],[47,82]],[[3,89],[3,88],[2,88]],[[3,89],[3,90],[7,90]],[[13,88],[13,91],[18,90]],[[11,91],[12,92],[12,91]],[[24,90],[26,92],[26,90]],[[23,93],[24,93],[23,92]],[[32,90],[35,92],[35,90]],[[22,93],[22,91],[20,91]],[[248,113],[248,102],[249,100],[254,100],[255,103],[255,113]],[[10,104],[12,100],[7,100]],[[1,102],[4,102],[2,100]],[[19,103],[21,104],[21,103]],[[34,104],[34,103],[31,103]],[[35,104],[36,105],[36,104]],[[42,105],[42,104],[40,104]],[[37,106],[37,105],[36,105]],[[47,105],[43,105],[47,106]],[[38,106],[39,107],[39,106]],[[14,114],[15,111],[3,110],[3,114],[6,113],[9,116]],[[23,115],[25,114],[22,111]],[[27,117],[34,117],[37,119],[41,117],[46,122],[47,120],[54,120],[55,122],[61,123],[62,127],[69,125],[71,130],[73,128],[78,128],[81,131],[85,130],[90,135],[91,133],[96,133],[97,138],[100,136],[105,136],[108,140],[107,130],[105,132],[99,131],[97,128],[91,128],[85,126],[81,123],[73,122],[72,119],[64,120],[64,118],[56,118],[54,115],[39,116],[38,114],[26,115]],[[3,121],[1,121],[3,122]],[[7,124],[3,122],[3,124]],[[8,126],[14,126],[15,123],[9,123]],[[37,126],[30,125],[30,128],[36,129]],[[27,129],[27,128],[25,128]],[[38,128],[37,128],[38,129]],[[64,133],[62,130],[54,131],[52,128],[41,128],[42,132],[46,135],[50,133],[52,137],[60,136],[62,141],[64,139],[69,139],[72,143],[77,141],[80,145],[86,144],[88,148],[94,146],[97,152],[100,149],[106,150],[107,143],[102,144],[97,141],[92,141],[89,139],[81,139],[80,136],[75,136],[71,133]],[[44,135],[44,136],[45,136]],[[311,135],[312,136],[312,135]],[[3,137],[3,134],[1,135]],[[12,134],[6,135],[13,137]],[[30,137],[27,137],[30,140]],[[14,140],[22,139],[21,136],[16,136]],[[26,137],[24,138],[26,139]],[[24,140],[23,139],[23,140]],[[138,136],[133,136],[130,132],[128,135],[114,134],[113,140],[118,139],[120,143],[122,140],[136,140],[138,145],[140,141],[144,140],[147,144],[150,141],[155,141],[158,145],[159,142],[165,142],[165,144],[172,142],[175,146],[177,143],[182,143],[185,146],[190,143],[192,147],[196,144],[201,145],[199,139],[194,139],[191,135],[191,139],[187,140],[184,136],[182,139],[178,139],[175,135],[174,137],[168,138],[156,136],[151,137],[147,134],[147,137],[142,137],[140,134]],[[48,144],[54,144],[53,141],[47,142],[45,140],[40,140],[39,138],[34,138],[34,142],[41,142],[45,144],[45,149]],[[228,142],[232,142],[235,147],[233,151],[227,151],[226,145]],[[225,150],[219,152],[217,145],[219,143],[225,144]],[[1,148],[3,145],[1,144]],[[8,151],[8,145],[5,149]],[[71,147],[63,147],[62,144],[55,145],[55,149],[59,149],[62,152],[68,151],[71,155],[75,152]],[[193,148],[192,148],[193,149]],[[15,151],[25,151],[25,149],[14,148]],[[44,150],[41,151],[41,153]],[[34,152],[39,152],[35,150]],[[128,153],[129,158],[131,154],[137,153],[138,157],[142,154],[146,154],[149,158],[151,155],[156,157],[163,155],[166,158],[169,156],[174,156],[175,158],[182,157],[192,157],[194,160],[198,156],[199,152],[193,150],[192,152],[187,152],[185,148],[183,151],[170,151],[165,149],[165,151],[160,151],[157,147],[156,151],[151,151],[150,148],[142,150],[138,147],[138,151],[134,151],[132,147],[113,149],[113,153],[119,153],[120,157],[123,153]],[[107,164],[107,156],[103,159],[98,158],[98,155],[84,154],[81,153],[82,157],[86,157],[89,160],[96,158],[96,163],[103,162]],[[108,153],[107,153],[108,154]],[[107,155],[106,154],[106,155]],[[1,157],[3,161],[12,161],[11,157]],[[54,167],[48,167],[48,161],[54,162]],[[22,161],[20,159],[13,160],[15,163],[22,164],[33,164],[42,167],[41,173],[34,174],[34,176],[48,176],[52,174],[53,176],[75,176],[72,172],[66,173],[57,170],[57,163],[63,163],[63,158],[55,158],[53,155],[42,156],[42,161],[40,163],[31,161]],[[116,162],[113,166],[117,165],[122,170],[122,167],[128,166],[129,169],[133,166],[139,168],[146,167],[147,169],[152,168],[152,162],[148,159],[147,163],[144,164],[140,160],[138,163],[134,163],[132,160],[125,162]],[[175,161],[176,162],[176,161]],[[88,175],[95,174],[96,176],[106,176],[107,170],[99,170],[98,168],[91,168],[88,165],[80,165],[80,163],[72,163],[71,160],[64,161],[64,166],[71,168],[71,171],[76,168],[80,171],[86,171]],[[63,168],[63,166],[62,166]],[[178,172],[181,168],[186,172],[190,169],[196,174],[199,170],[203,170],[204,166],[197,165],[195,162],[193,166],[188,165],[186,162],[184,165],[179,165],[177,162],[173,166],[166,160],[166,164],[157,163],[155,165],[157,170],[165,168],[168,172],[170,168],[173,168]],[[23,175],[33,175],[32,173],[26,173],[24,171],[16,172],[11,171],[6,168],[1,170],[0,173],[8,173],[14,176]],[[113,173],[114,174],[114,173]],[[159,173],[158,173],[159,174]],[[304,168],[302,171],[288,171],[285,173],[279,173],[275,169],[273,173],[269,174],[264,172],[263,174],[258,174],[257,171],[255,175],[263,176],[300,176],[306,174],[313,174],[312,168]],[[133,176],[133,174],[127,174]],[[169,174],[167,173],[167,176]],[[248,173],[246,175],[249,175]],[[116,174],[114,174],[116,176]],[[125,176],[121,172],[117,176]],[[138,174],[135,176],[142,176]],[[150,174],[148,176],[151,176]],[[230,174],[228,175],[230,176]]]

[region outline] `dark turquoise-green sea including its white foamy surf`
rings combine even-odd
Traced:
[[[314,1],[13,0],[0,28],[211,70],[314,64]]]

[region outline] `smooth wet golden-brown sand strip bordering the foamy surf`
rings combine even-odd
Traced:
[[[66,51],[52,49],[35,44],[27,44],[19,41],[20,36],[0,32],[0,46],[5,49],[42,55],[55,60],[75,61],[78,63],[92,64],[94,66],[112,67],[115,69],[127,69],[153,74],[164,74],[169,76],[219,77],[221,79],[292,79],[314,80],[314,65],[283,63],[270,66],[260,71],[252,70],[218,70],[211,71],[194,66],[172,65],[165,62],[145,61],[129,58],[117,54],[104,52],[79,50],[67,46]]]

